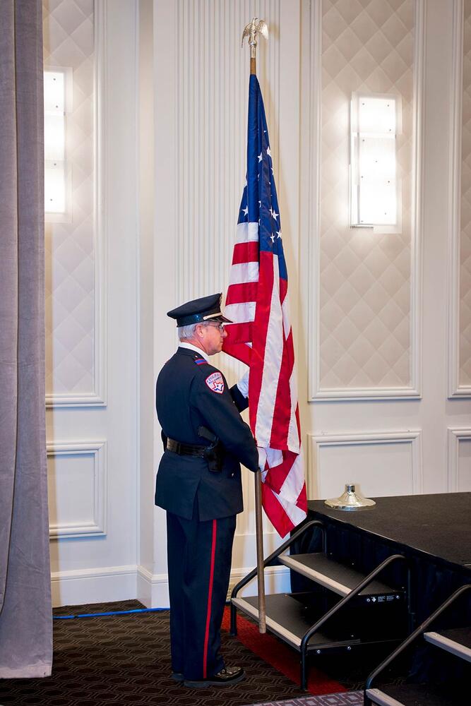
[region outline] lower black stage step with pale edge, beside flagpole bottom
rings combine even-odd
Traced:
[[[306,597],[306,600],[303,600]],[[246,615],[258,620],[258,597],[233,598],[232,603]],[[307,594],[279,593],[266,596],[266,626],[279,638],[289,642],[294,649],[299,650],[301,640],[316,620],[321,617],[313,613]],[[347,629],[347,628],[346,628]],[[315,633],[309,641],[308,650],[323,650],[333,647],[350,647],[359,645],[358,638],[350,635],[334,635],[332,633]]]

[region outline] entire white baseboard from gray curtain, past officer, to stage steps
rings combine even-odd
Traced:
[[[229,587],[233,587],[251,568],[231,571]],[[105,566],[95,569],[57,571],[51,575],[52,605],[78,606],[84,603],[111,603],[138,599],[147,608],[168,608],[167,574],[153,574],[144,566]],[[269,566],[265,570],[265,590],[270,593],[290,591],[290,570],[286,566]],[[240,592],[256,593],[256,580]]]

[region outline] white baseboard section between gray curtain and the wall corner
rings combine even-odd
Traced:
[[[51,574],[52,605],[78,606],[136,598],[137,566],[105,566]]]

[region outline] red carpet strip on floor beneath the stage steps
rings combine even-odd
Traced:
[[[227,632],[230,629],[230,609],[228,606],[226,606],[224,617],[222,618],[222,629],[227,630]],[[287,645],[284,645],[269,633],[261,635],[258,632],[258,626],[249,622],[240,614],[237,615],[237,639],[242,642],[242,645],[258,654],[258,657],[264,659],[299,686],[299,655],[297,652],[291,650],[290,647],[287,647]],[[338,681],[333,681],[333,679],[330,679],[315,667],[309,669],[307,688],[314,695],[347,691],[345,686],[339,684]]]

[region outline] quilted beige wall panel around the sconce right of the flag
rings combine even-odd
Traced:
[[[323,0],[321,389],[411,384],[410,253],[414,0]],[[350,228],[352,91],[397,93],[403,227]]]

